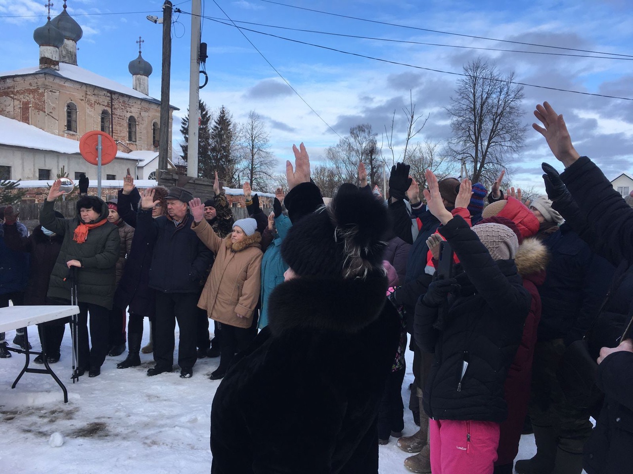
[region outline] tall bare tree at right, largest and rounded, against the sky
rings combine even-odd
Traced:
[[[455,161],[467,163],[473,183],[492,183],[523,145],[523,87],[513,83],[514,73],[503,76],[480,58],[464,73],[446,109],[453,130],[449,150]]]

